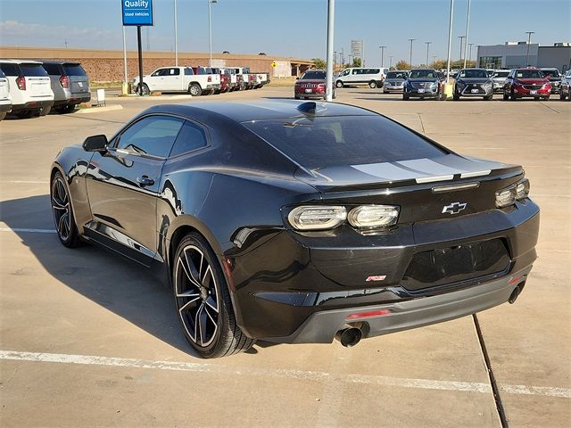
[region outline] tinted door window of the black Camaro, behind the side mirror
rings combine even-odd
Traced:
[[[140,119],[120,135],[116,148],[166,158],[184,120],[169,116]]]

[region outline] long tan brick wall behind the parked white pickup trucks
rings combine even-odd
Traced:
[[[123,79],[123,52],[87,49],[35,48],[0,46],[0,57],[21,59],[58,59],[81,62],[87,75],[93,81],[120,81]],[[208,53],[178,53],[179,65],[208,65]],[[276,69],[271,67],[277,62]],[[301,71],[306,70],[311,62],[289,57],[212,53],[213,65],[222,67],[250,67],[252,71],[268,72],[270,76],[285,77],[291,75],[299,65]],[[174,65],[174,53],[143,52],[143,72],[145,74]],[[138,74],[136,51],[127,54],[128,78],[131,80]],[[288,72],[290,74],[288,74]]]

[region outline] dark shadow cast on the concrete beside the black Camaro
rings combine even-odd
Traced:
[[[49,195],[0,202],[12,229],[53,229]],[[57,235],[15,232],[46,272],[70,289],[193,356],[178,323],[170,290],[137,263],[94,245],[67,249]]]

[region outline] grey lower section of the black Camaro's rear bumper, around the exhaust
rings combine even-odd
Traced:
[[[510,300],[511,296],[517,298],[531,268],[458,292],[385,305],[316,312],[294,333],[267,340],[283,343],[330,343],[344,325],[358,326],[363,337],[367,338],[465,317],[501,305]],[[362,315],[359,317],[359,314]]]

